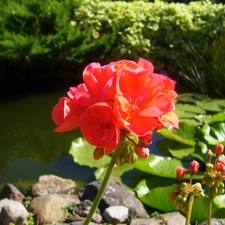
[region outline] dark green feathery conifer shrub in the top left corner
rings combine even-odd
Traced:
[[[11,71],[49,71],[99,59],[110,49],[113,36],[92,38],[92,27],[77,21],[81,0],[9,0],[0,3],[0,64]],[[79,23],[78,23],[79,22]],[[91,61],[91,59],[89,59]],[[23,76],[23,75],[22,75]],[[26,76],[26,75],[24,75]]]

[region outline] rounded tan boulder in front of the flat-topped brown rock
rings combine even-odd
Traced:
[[[36,215],[35,224],[51,223],[61,221],[67,217],[63,210],[68,206],[68,202],[60,195],[49,194],[35,197],[27,207],[29,212]]]

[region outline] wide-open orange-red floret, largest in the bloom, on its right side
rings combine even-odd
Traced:
[[[146,69],[122,69],[118,74],[114,109],[120,126],[144,136],[153,131],[160,117],[172,110],[172,101],[162,92],[160,76]]]

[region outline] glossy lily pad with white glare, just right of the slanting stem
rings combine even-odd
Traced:
[[[134,167],[149,174],[157,175],[160,177],[176,177],[176,167],[182,166],[182,163],[178,159],[172,159],[170,157],[162,157],[154,154],[146,159],[139,159]]]

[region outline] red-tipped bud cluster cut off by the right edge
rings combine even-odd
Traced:
[[[223,150],[224,146],[222,144],[217,144],[215,146],[216,159],[214,164],[211,163],[211,158],[209,159],[207,155],[209,162],[206,164],[206,172],[202,184],[211,188],[213,196],[224,193],[225,156],[222,154]]]

